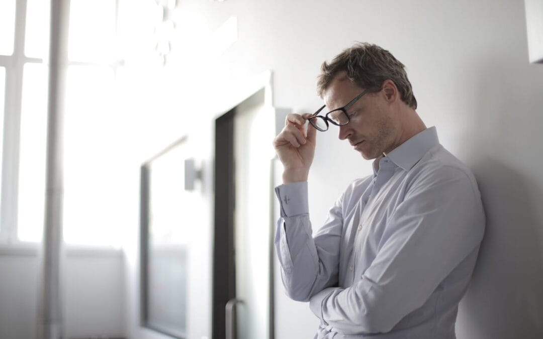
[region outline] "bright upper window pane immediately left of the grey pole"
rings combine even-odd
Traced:
[[[27,0],[24,54],[45,59],[49,52],[50,0]]]

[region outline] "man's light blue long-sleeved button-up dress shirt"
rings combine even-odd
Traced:
[[[426,129],[374,161],[312,235],[307,182],[275,188],[287,295],[310,301],[315,338],[455,338],[483,238],[471,171]]]

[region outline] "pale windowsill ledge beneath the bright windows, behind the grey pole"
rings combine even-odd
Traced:
[[[41,246],[36,242],[20,242],[18,244],[0,244],[0,257],[37,257],[40,255]],[[64,252],[67,258],[82,257],[122,257],[123,250],[113,246],[84,246],[64,245]]]

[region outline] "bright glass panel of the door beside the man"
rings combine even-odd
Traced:
[[[235,265],[237,335],[269,338],[271,159],[273,114],[266,114],[260,91],[236,107]],[[269,126],[263,129],[262,126]]]

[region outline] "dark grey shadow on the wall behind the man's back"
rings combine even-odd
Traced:
[[[473,279],[461,304],[459,337],[542,338],[543,267],[536,209],[543,194],[491,158],[472,166],[481,190],[487,227]],[[460,321],[460,319],[459,319]]]

